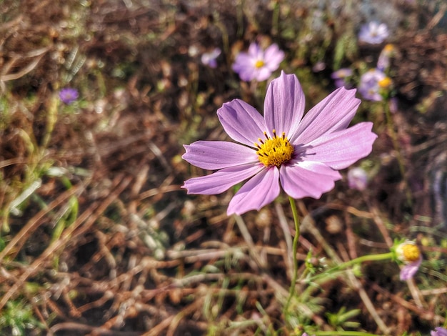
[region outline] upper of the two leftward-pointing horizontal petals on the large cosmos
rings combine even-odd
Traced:
[[[250,162],[257,162],[256,151],[251,148],[224,141],[198,141],[184,145],[182,159],[202,169],[222,169]]]

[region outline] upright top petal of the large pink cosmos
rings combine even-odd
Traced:
[[[268,132],[276,130],[281,135],[286,132],[287,137],[295,134],[296,128],[303,117],[305,98],[303,89],[294,74],[284,74],[273,79],[268,85],[266,100],[264,101],[264,118]],[[273,134],[270,134],[273,135]],[[290,138],[288,138],[290,140]]]

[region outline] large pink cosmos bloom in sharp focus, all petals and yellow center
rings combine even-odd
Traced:
[[[268,86],[263,116],[240,99],[218,110],[226,133],[238,143],[184,146],[183,159],[217,172],[189,179],[182,187],[188,194],[220,194],[248,179],[227,214],[259,210],[278,197],[281,187],[296,199],[318,199],[341,179],[338,169],[366,157],[377,137],[371,122],[348,128],[360,104],[355,95],[354,89],[336,89],[303,117],[301,85],[295,75],[281,72]]]

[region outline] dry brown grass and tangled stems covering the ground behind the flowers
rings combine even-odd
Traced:
[[[421,245],[423,267],[408,282],[393,262],[318,287],[301,281],[288,317],[286,199],[227,217],[233,191],[191,197],[180,188],[204,174],[181,160],[182,144],[226,139],[216,110],[235,97],[261,109],[265,85],[253,92],[231,71],[253,39],[286,51],[284,70],[298,75],[309,106],[332,89],[334,67],[366,69],[380,48],[355,43],[366,19],[357,5],[336,15],[318,1],[248,2],[2,1],[0,333],[300,335],[313,325],[428,335],[446,323],[446,226],[442,204],[430,202],[431,177],[445,182],[447,172],[442,1],[378,1],[400,13],[393,120],[406,175],[383,106],[363,102],[356,122],[375,122],[379,134],[363,162],[375,172],[371,187],[342,181],[298,201],[300,274],[387,252],[403,237]],[[224,54],[216,70],[200,63],[214,46]],[[318,61],[326,69],[311,71]],[[63,87],[79,89],[78,101],[63,104]]]

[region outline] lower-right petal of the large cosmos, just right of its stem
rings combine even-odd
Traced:
[[[313,197],[318,199],[331,190],[341,179],[340,173],[320,162],[303,161],[283,165],[280,169],[281,185],[293,198]]]

